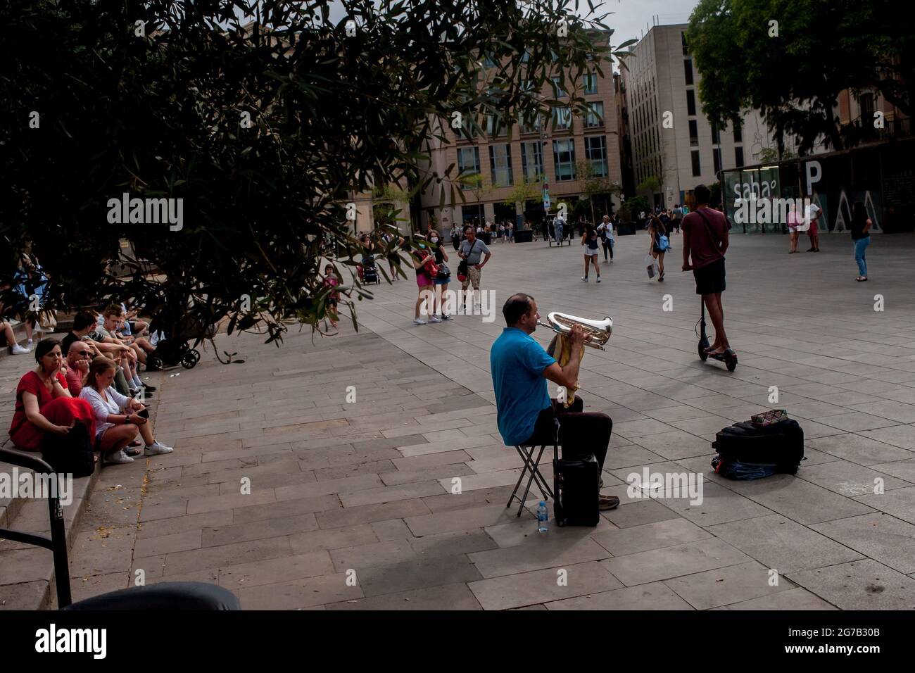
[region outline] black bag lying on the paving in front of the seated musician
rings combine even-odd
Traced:
[[[803,429],[793,418],[768,426],[735,423],[716,433],[712,448],[725,461],[775,465],[795,474],[803,460]]]

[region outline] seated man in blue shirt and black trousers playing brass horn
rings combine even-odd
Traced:
[[[546,380],[574,389],[578,380],[579,353],[585,332],[574,325],[568,338],[572,353],[568,364],[560,367],[555,359],[533,340],[537,329],[537,302],[518,293],[502,307],[506,327],[490,350],[490,371],[495,388],[499,432],[506,445],[552,445],[556,414],[559,414],[559,444],[565,460],[594,454],[603,472],[613,421],[607,414],[582,413],[581,397],[568,410],[550,399]],[[601,495],[600,509],[619,505],[616,495]]]

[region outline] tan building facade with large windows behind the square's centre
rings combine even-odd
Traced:
[[[604,70],[611,71],[609,64]],[[570,86],[566,78],[566,86]],[[556,89],[554,89],[554,85]],[[482,125],[483,133],[470,139],[448,123],[436,120],[445,141],[433,138],[429,143],[430,162],[425,168],[443,176],[454,164],[451,179],[430,183],[421,197],[420,226],[433,225],[447,231],[453,223],[485,223],[508,221],[513,224],[544,217],[543,184],[548,186],[551,212],[565,202],[571,212],[573,203],[585,192],[587,175],[619,185],[619,132],[613,81],[601,77],[596,70],[578,81],[578,93],[583,95],[590,113],[576,115],[569,106],[553,108],[552,120],[514,120],[511,137],[501,120],[489,117]],[[547,81],[539,92],[542,100],[562,102],[568,93],[559,85],[558,73],[553,83]],[[558,94],[558,95],[557,95]],[[458,180],[464,176],[465,180]],[[476,185],[467,184],[474,176]],[[519,185],[522,192],[518,191]],[[451,190],[455,201],[451,202]],[[441,205],[442,191],[445,204]],[[463,200],[460,195],[463,195]],[[512,194],[516,198],[512,201]],[[511,202],[506,202],[511,201]],[[596,200],[597,201],[597,200]],[[607,199],[607,209],[619,206],[619,199]],[[595,217],[603,214],[595,211]]]

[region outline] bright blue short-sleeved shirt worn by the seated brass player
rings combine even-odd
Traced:
[[[537,416],[550,406],[544,369],[555,359],[517,327],[506,327],[490,350],[499,432],[509,446],[533,433]]]

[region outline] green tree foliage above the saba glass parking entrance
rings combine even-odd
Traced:
[[[856,136],[834,114],[839,92],[875,87],[910,114],[915,21],[903,15],[895,0],[700,0],[687,42],[705,114],[725,125],[756,108],[780,149],[784,135],[802,153],[821,135],[847,147]]]

